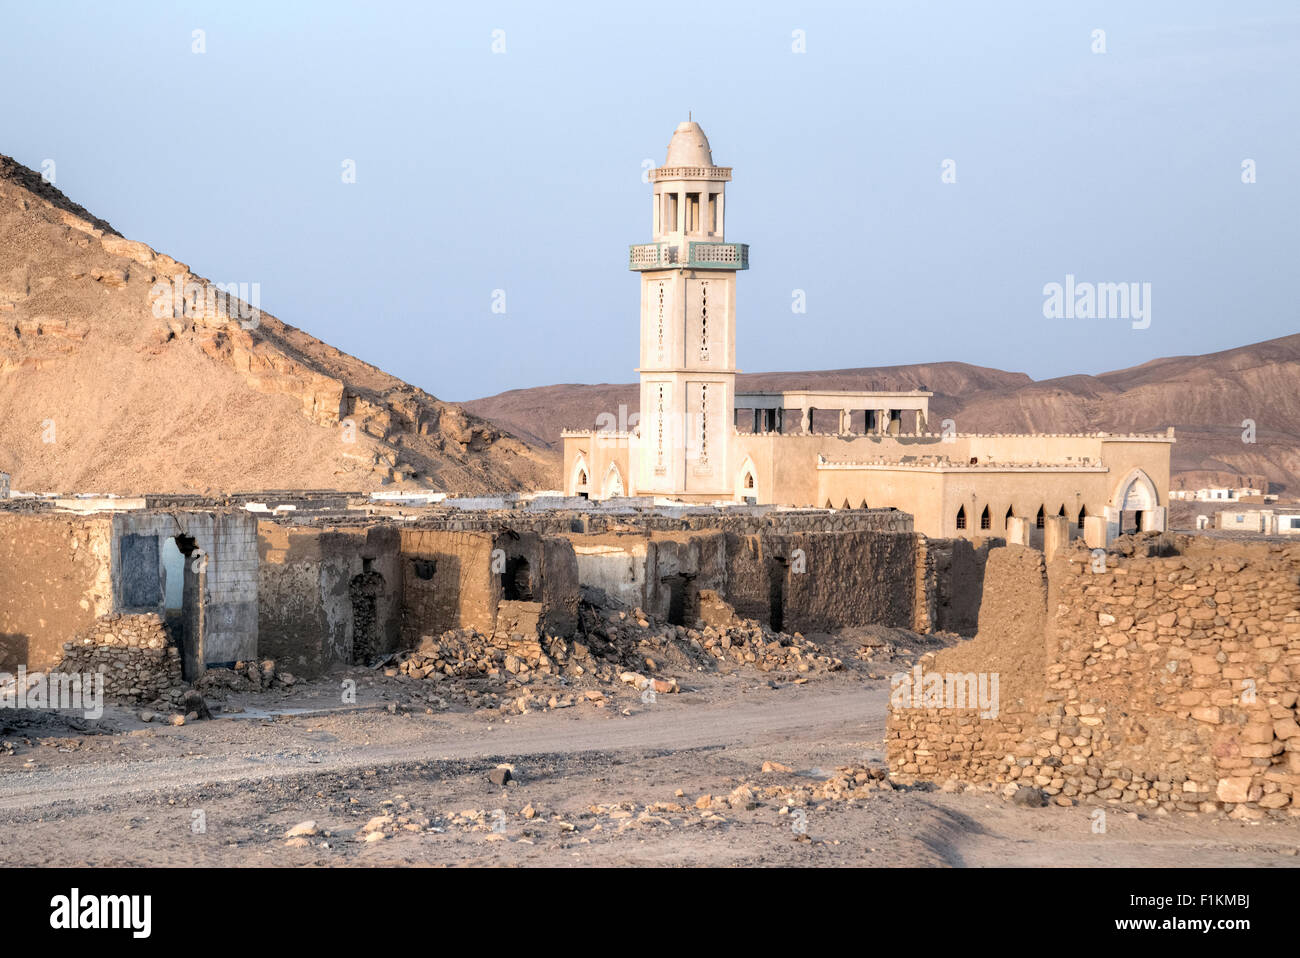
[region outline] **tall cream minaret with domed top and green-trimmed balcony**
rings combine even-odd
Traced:
[[[749,247],[724,239],[729,166],[714,166],[699,123],[677,126],[654,183],[654,242],[633,246],[641,273],[641,495],[729,498],[736,396],[736,270]]]

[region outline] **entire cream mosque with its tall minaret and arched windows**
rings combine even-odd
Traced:
[[[736,276],[725,239],[731,168],[681,123],[654,183],[641,276],[641,412],[627,430],[564,430],[569,495],[827,508],[893,507],[932,537],[1010,537],[1065,516],[1106,545],[1162,530],[1173,430],[1156,435],[976,435],[930,419],[924,390],[736,393]],[[1031,532],[1030,536],[1040,536]]]

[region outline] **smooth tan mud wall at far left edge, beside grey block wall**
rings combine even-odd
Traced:
[[[0,510],[0,669],[48,668],[113,610],[107,516]]]

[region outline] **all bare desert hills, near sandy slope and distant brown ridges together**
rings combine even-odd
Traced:
[[[162,308],[160,290],[176,291]],[[445,403],[213,290],[0,156],[0,471],[14,489],[554,489],[563,426],[637,411],[633,383]],[[961,432],[1174,426],[1175,486],[1258,477],[1300,494],[1300,334],[1044,381],[965,363],[738,377],[922,386],[932,421]]]

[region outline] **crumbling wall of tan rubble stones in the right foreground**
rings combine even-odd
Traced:
[[[1018,660],[997,658],[984,608],[1006,586],[998,551],[980,636],[923,667],[1006,669],[1000,714],[892,708],[896,775],[1034,785],[1060,803],[1300,814],[1300,546],[1191,541],[1104,571],[1069,554],[1050,567],[1041,664],[1023,634]]]

